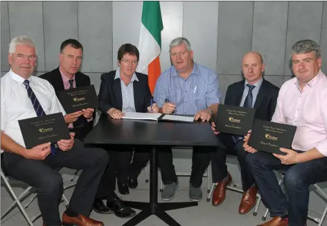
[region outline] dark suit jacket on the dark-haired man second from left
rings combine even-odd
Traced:
[[[58,95],[58,91],[64,90],[64,82],[62,81],[62,76],[59,70],[59,67],[54,69],[53,71],[50,71],[48,73],[44,73],[42,76],[39,76],[39,78],[44,78],[45,80],[48,80],[48,82],[51,83],[53,88],[55,89],[55,94]],[[76,87],[83,87],[87,85],[91,85],[91,81],[89,79],[89,76],[85,75],[84,73],[77,72],[75,75],[76,80]],[[83,116],[80,116],[83,117]],[[96,112],[94,111],[93,119],[96,117]],[[81,129],[76,130],[76,138],[83,140],[86,135],[91,131],[93,128],[94,121],[85,122],[84,126]]]

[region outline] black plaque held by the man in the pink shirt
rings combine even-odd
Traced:
[[[249,137],[249,146],[267,153],[285,155],[279,148],[291,148],[297,127],[256,119]]]

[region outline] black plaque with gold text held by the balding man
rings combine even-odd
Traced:
[[[256,109],[232,105],[218,105],[215,130],[244,136],[251,130]]]

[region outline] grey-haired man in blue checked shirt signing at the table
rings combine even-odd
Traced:
[[[191,44],[184,37],[170,42],[173,67],[164,71],[154,89],[154,101],[163,114],[194,114],[195,120],[209,121],[220,103],[218,76],[193,61]],[[202,199],[202,175],[210,162],[209,153],[216,148],[194,147],[189,195],[192,201]],[[158,152],[161,178],[165,184],[162,200],[173,200],[179,185],[170,147]]]

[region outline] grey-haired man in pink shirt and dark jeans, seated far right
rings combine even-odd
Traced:
[[[321,69],[319,45],[300,40],[292,46],[296,78],[279,91],[272,121],[297,126],[286,155],[258,152],[247,144],[246,161],[272,220],[258,226],[304,226],[308,218],[309,186],[327,181],[327,77]],[[286,199],[273,170],[284,170]]]

